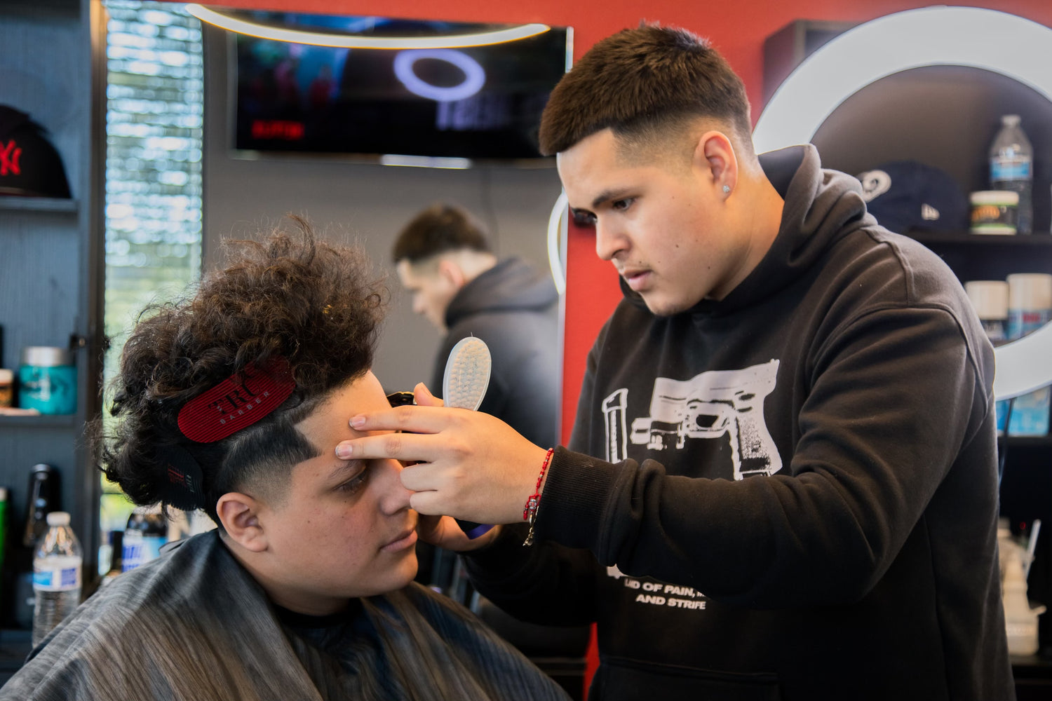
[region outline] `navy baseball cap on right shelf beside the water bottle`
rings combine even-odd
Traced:
[[[968,199],[945,170],[917,161],[893,161],[857,178],[866,209],[886,229],[968,230]]]

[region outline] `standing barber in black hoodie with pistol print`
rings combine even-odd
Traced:
[[[624,293],[569,450],[418,386],[348,417],[408,433],[337,454],[419,461],[421,513],[518,523],[467,543],[472,580],[596,622],[589,701],[1011,699],[990,343],[857,180],[750,132],[707,41],[595,44],[541,124]]]

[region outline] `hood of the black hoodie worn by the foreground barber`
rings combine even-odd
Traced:
[[[811,144],[762,153],[760,165],[785,201],[777,236],[756,267],[723,300],[702,300],[687,313],[729,313],[767,297],[800,277],[837,239],[876,224],[866,213],[862,185],[822,167]],[[625,296],[645,306],[621,281]]]

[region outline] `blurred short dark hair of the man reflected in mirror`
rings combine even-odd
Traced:
[[[486,230],[470,212],[440,202],[405,225],[394,242],[391,256],[394,263],[420,263],[439,253],[461,250],[492,252]]]

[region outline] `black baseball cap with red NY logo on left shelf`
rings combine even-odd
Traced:
[[[62,159],[42,126],[0,105],[0,195],[68,198]]]

